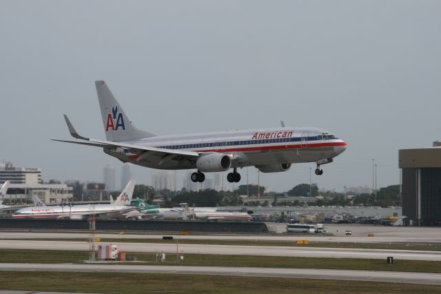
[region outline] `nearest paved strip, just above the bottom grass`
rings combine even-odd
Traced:
[[[0,271],[65,271],[107,273],[172,273],[192,275],[236,275],[302,279],[355,280],[441,285],[441,274],[390,271],[343,271],[308,268],[252,268],[219,266],[141,266],[119,264],[0,264]]]

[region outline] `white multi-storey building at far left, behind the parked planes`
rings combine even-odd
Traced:
[[[11,184],[42,184],[41,168],[19,168],[10,162],[0,164],[0,185],[6,181],[11,181]]]

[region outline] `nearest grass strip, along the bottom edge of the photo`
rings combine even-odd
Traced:
[[[440,293],[441,286],[276,277],[1,272],[0,290],[85,293]]]

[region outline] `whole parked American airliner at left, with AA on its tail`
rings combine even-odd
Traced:
[[[127,206],[132,200],[135,181],[130,181],[113,204],[79,204],[69,206],[41,206],[41,200],[37,195],[32,198],[37,199],[39,205],[22,208],[12,215],[12,218],[39,218],[39,219],[85,219],[90,215],[96,218],[112,218],[122,213],[132,211],[133,206]]]

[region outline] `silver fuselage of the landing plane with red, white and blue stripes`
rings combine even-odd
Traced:
[[[150,146],[198,153],[225,153],[236,157],[232,167],[292,164],[332,159],[346,150],[345,141],[319,128],[266,128],[189,135],[166,135],[124,141],[125,144]],[[105,153],[132,164],[161,169],[196,168],[192,161],[167,166],[163,157],[146,158],[130,148],[104,148]],[[141,157],[141,158],[140,158]],[[141,160],[142,159],[142,160]]]

